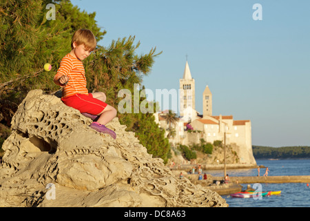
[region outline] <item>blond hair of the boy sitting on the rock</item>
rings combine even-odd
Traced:
[[[85,50],[94,50],[96,48],[96,37],[91,30],[88,29],[79,29],[74,32],[71,40],[71,48],[73,49],[73,43],[76,43],[76,46],[84,44]]]

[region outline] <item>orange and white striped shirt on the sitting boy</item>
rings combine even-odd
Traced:
[[[63,75],[69,77],[69,81],[65,86],[59,83],[59,78]],[[70,54],[65,55],[65,57],[61,59],[61,64],[54,77],[54,83],[63,87],[63,97],[69,97],[76,94],[88,95],[83,63]]]

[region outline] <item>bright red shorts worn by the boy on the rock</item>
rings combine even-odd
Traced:
[[[91,115],[99,115],[107,106],[105,102],[94,98],[91,93],[88,95],[76,94],[61,98],[61,100],[65,105],[71,106],[81,113],[90,113]]]

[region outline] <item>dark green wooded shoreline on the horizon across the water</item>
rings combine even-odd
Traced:
[[[256,159],[262,158],[310,158],[310,146],[252,146]]]

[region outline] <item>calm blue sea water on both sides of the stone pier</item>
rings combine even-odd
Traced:
[[[256,160],[258,165],[268,166],[268,175],[310,175],[310,159],[305,160]],[[207,171],[211,175],[223,175],[220,171]],[[257,169],[227,170],[229,176],[256,176]],[[264,175],[265,169],[260,169]],[[252,186],[253,184],[251,184]],[[310,185],[310,184],[309,184]],[[247,186],[247,184],[242,184]],[[310,207],[310,188],[307,183],[262,184],[262,191],[282,191],[281,195],[253,198],[222,197],[229,207]]]

